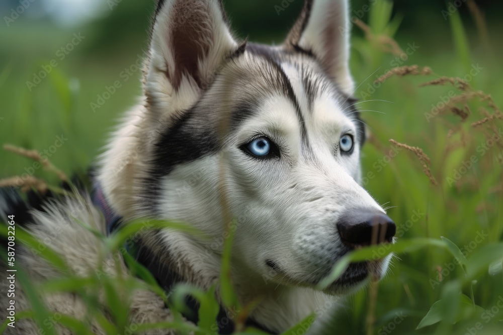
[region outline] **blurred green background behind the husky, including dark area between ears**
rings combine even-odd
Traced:
[[[28,9],[12,21],[6,17],[12,18],[19,2],[3,0],[0,4],[0,143],[43,151],[51,148],[57,136],[63,136],[68,140],[51,153],[51,161],[68,174],[85,172],[101,153],[117,119],[141,93],[141,71],[130,69],[130,74],[125,73],[148,46],[154,1],[25,3],[30,4]],[[471,7],[475,2],[469,0],[351,3],[351,15],[367,23],[372,32],[369,37],[353,26],[352,70],[357,85],[361,84],[355,95],[367,101],[360,107],[365,110],[362,115],[371,131],[362,157],[366,188],[380,203],[396,206],[388,213],[397,222],[400,238],[445,236],[468,258],[480,252],[481,259],[489,259],[485,246],[503,239],[503,141],[495,141],[483,153],[477,149],[503,122],[487,100],[478,98],[466,106],[464,102],[459,105],[470,108],[466,120],[449,111],[430,118],[435,111],[432,105],[452,101],[451,92],[462,92],[451,85],[418,85],[439,76],[463,78],[475,68],[476,74],[469,80],[473,91],[491,94],[495,104],[503,106],[499,56],[503,52],[502,4],[476,1],[479,16]],[[301,0],[225,1],[238,36],[276,44],[282,42],[302,5]],[[66,50],[66,54],[61,48],[74,39],[74,34],[85,38],[74,43],[73,50]],[[409,55],[400,58],[388,52],[384,47],[388,40],[382,36],[393,37],[403,51],[410,51]],[[33,82],[34,76],[53,60],[57,66],[51,67],[39,84],[29,87],[32,85],[27,81]],[[377,88],[372,83],[394,66],[413,64],[429,66],[434,75],[392,77]],[[122,87],[93,110],[92,103],[98,103],[106,87],[116,80]],[[472,127],[471,123],[486,117],[484,110],[487,116],[496,115],[494,120]],[[389,139],[422,148],[431,158],[429,166],[438,185],[430,182],[413,153],[401,150],[396,157],[387,157],[392,148]],[[463,171],[472,156],[477,162]],[[0,178],[21,175],[32,166],[28,159],[5,151],[0,151],[0,162]],[[42,169],[35,175],[56,180]],[[470,243],[479,233],[488,236],[471,248]],[[453,327],[443,323],[414,330],[430,307],[447,294],[449,287],[454,287],[449,283],[459,285],[455,287],[471,298],[472,286],[466,284],[461,266],[450,269],[452,260],[448,251],[435,247],[399,255],[376,298],[369,295],[369,290],[349,297],[334,328],[327,333],[335,328],[344,329],[340,333],[379,335],[465,334],[472,329],[475,333],[503,333],[503,309],[498,309],[487,323],[477,310],[462,314]],[[482,262],[484,271],[469,278],[477,280],[473,301],[484,309],[497,306],[503,296],[502,275],[497,266],[493,275],[489,274],[489,263]],[[449,310],[450,306],[444,305],[443,309]],[[404,315],[399,322],[396,313]],[[476,322],[482,322],[483,329],[473,328]]]

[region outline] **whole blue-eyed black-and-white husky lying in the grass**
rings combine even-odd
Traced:
[[[186,222],[210,239],[149,231],[136,239],[137,258],[164,287],[201,289],[218,280],[223,237],[232,230],[237,297],[241,305],[259,301],[249,324],[280,333],[313,312],[328,317],[327,306],[381,278],[389,257],[351,264],[324,291],[316,289],[320,281],[346,253],[392,243],[395,234],[393,221],[359,184],[365,129],[352,97],[348,14],[347,0],[306,0],[286,41],[265,46],[233,37],[221,0],[160,0],[144,96],[101,157],[94,198],[52,199],[22,223],[72,273],[86,276],[98,267],[103,242],[77,221],[103,233],[145,217]],[[16,206],[19,199],[5,193],[2,219]],[[58,270],[36,254],[18,251],[17,264],[35,282],[57,278]],[[2,319],[9,316],[7,290],[8,283]],[[44,301],[60,314],[87,315],[72,293]],[[30,306],[18,290],[16,311],[24,309]],[[228,312],[222,307],[213,330],[232,332],[224,326],[231,320],[220,322]],[[147,290],[135,293],[129,317],[172,319]],[[29,321],[16,326],[9,333],[38,333]],[[93,331],[104,333],[97,322]]]

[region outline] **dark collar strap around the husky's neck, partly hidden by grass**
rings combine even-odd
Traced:
[[[98,208],[100,208],[100,210],[105,215],[107,235],[111,235],[117,228],[119,228],[122,222],[122,217],[117,215],[117,213],[115,213],[115,211],[109,205],[107,199],[105,198],[105,195],[103,194],[101,186],[98,183],[95,183],[94,186],[94,192],[92,195],[93,203]],[[142,264],[150,271],[160,287],[172,290],[177,283],[182,282],[182,278],[175,271],[170,268],[159,266],[160,264],[162,264],[162,262],[157,260],[155,257],[152,257],[153,254],[148,250],[147,246],[136,244],[133,248],[126,249],[132,254],[133,257],[135,257],[138,263]],[[187,296],[186,303],[190,312],[184,313],[184,317],[187,320],[197,324],[199,321],[198,301],[191,296]],[[227,316],[225,309],[221,306],[216,321],[219,334],[232,334],[232,332],[234,331],[234,322],[230,317]],[[246,325],[253,326],[270,334],[277,334],[277,332],[267,329],[251,318],[248,318],[246,320]]]

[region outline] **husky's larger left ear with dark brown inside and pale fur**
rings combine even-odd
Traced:
[[[238,48],[221,0],[159,0],[145,78],[149,107],[158,113],[190,107]]]

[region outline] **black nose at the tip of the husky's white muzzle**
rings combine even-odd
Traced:
[[[337,230],[343,243],[354,248],[392,242],[396,226],[382,212],[354,209],[341,217]]]

